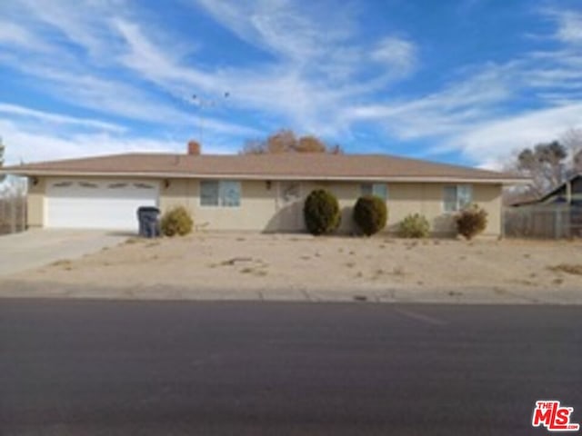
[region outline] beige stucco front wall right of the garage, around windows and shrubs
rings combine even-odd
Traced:
[[[437,236],[456,233],[453,215],[443,211],[443,189],[446,183],[388,183],[388,223],[386,233],[396,233],[398,223],[409,213],[422,213]],[[324,188],[337,197],[342,211],[340,233],[354,230],[352,207],[360,195],[360,183],[300,183],[300,197],[291,203],[281,201],[281,185],[277,182],[244,181],[241,183],[240,207],[200,206],[199,183],[196,180],[174,180],[162,188],[163,210],[182,204],[188,207],[196,226],[208,230],[246,230],[260,232],[303,232],[303,202],[308,193]],[[501,185],[473,185],[473,200],[488,214],[484,236],[501,233]]]

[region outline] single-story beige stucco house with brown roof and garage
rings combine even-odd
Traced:
[[[335,193],[341,232],[353,230],[358,196],[386,199],[386,232],[422,213],[432,232],[455,232],[468,203],[488,213],[485,234],[501,233],[501,193],[513,176],[370,154],[119,154],[6,167],[28,178],[28,226],[135,230],[135,210],[185,205],[207,230],[303,232],[303,201],[317,187]]]

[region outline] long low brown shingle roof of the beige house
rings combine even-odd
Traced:
[[[5,167],[16,175],[524,183],[511,174],[383,154],[115,154]]]

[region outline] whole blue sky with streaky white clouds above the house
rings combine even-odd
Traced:
[[[8,163],[291,128],[497,168],[582,127],[581,97],[579,0],[0,2]]]

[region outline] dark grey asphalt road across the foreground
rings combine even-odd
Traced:
[[[0,300],[0,434],[520,435],[582,308]]]

